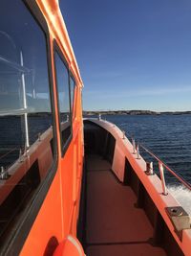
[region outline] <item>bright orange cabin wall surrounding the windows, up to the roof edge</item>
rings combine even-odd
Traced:
[[[50,43],[51,43],[51,56],[52,56],[52,70],[53,70],[53,97],[55,109],[55,122],[57,133],[57,146],[58,146],[58,161],[57,170],[54,175],[52,185],[49,192],[39,210],[39,213],[33,222],[32,229],[28,238],[20,252],[20,255],[43,255],[49,240],[55,237],[58,242],[68,235],[76,235],[76,222],[79,210],[81,177],[83,169],[83,128],[82,128],[82,106],[81,106],[81,87],[82,83],[77,70],[77,65],[73,57],[73,50],[64,49],[63,45],[70,46],[70,41],[67,40],[68,35],[60,35],[64,33],[62,27],[62,20],[60,14],[56,14],[58,28],[57,33],[53,33],[56,29],[51,23],[50,15],[45,9],[46,1],[38,1],[41,11],[44,13],[48,26],[50,28]],[[50,12],[56,11],[55,2],[49,2]],[[61,24],[61,25],[60,25]],[[74,112],[73,112],[73,139],[65,152],[63,158],[61,157],[60,141],[59,141],[59,124],[58,124],[58,109],[56,98],[56,84],[54,74],[53,62],[53,38],[62,50],[66,59],[72,59],[71,69],[74,74],[76,86],[74,91]],[[63,38],[66,41],[62,43]],[[68,55],[67,55],[68,53]]]

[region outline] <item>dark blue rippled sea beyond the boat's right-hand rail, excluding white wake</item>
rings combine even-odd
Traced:
[[[108,115],[102,119],[115,123],[130,140],[135,137],[191,183],[191,115]]]

